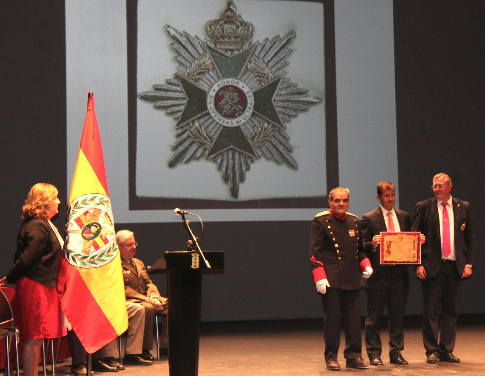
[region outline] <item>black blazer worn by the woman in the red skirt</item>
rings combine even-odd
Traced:
[[[56,287],[61,244],[46,219],[25,219],[17,236],[14,266],[7,273],[7,282],[20,277]]]

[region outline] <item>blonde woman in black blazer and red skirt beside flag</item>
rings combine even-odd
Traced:
[[[35,184],[22,207],[22,226],[17,236],[14,266],[0,280],[16,287],[20,338],[24,341],[22,368],[25,376],[36,376],[40,345],[44,338],[66,335],[56,284],[64,241],[50,219],[61,203],[57,188]]]

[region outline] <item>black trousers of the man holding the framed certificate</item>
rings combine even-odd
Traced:
[[[404,350],[404,307],[409,290],[406,275],[407,270],[403,272],[396,268],[395,273],[386,275],[381,289],[365,289],[365,345],[369,359],[380,358],[382,354],[381,320],[386,305],[389,312],[389,358],[399,357]]]

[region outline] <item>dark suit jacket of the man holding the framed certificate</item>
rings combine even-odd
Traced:
[[[401,231],[411,231],[411,216],[402,210],[394,208]],[[384,283],[387,273],[392,273],[397,269],[402,270],[406,283],[409,281],[408,267],[405,265],[381,265],[381,246],[377,246],[375,252],[372,251],[372,237],[381,231],[388,231],[382,209],[379,206],[372,212],[364,214],[362,217],[362,243],[364,250],[371,260],[373,273],[369,279],[362,278],[362,287],[370,289],[380,289]]]

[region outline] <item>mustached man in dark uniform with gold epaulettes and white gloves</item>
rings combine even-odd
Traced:
[[[315,216],[311,224],[310,261],[313,280],[321,293],[327,369],[339,370],[340,313],[345,330],[343,355],[346,366],[369,366],[362,359],[360,337],[360,278],[369,278],[372,267],[362,248],[360,223],[347,213],[349,189],[337,187],[328,195],[329,211]]]

